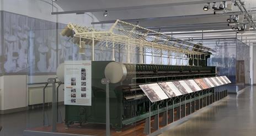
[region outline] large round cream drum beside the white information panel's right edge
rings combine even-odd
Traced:
[[[126,78],[127,69],[124,64],[119,62],[110,62],[105,67],[105,78],[110,80],[110,83],[118,83]]]

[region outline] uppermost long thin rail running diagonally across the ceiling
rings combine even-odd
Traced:
[[[225,0],[231,1],[231,0]],[[61,1],[60,1],[61,2]],[[183,5],[191,5],[191,4],[202,4],[202,3],[213,3],[219,2],[217,0],[204,0],[204,1],[194,1],[194,2],[178,2],[178,3],[165,3],[165,4],[152,4],[152,5],[143,5],[143,6],[131,6],[131,7],[116,7],[116,8],[102,8],[102,9],[85,9],[85,10],[72,10],[72,11],[64,11],[64,12],[52,12],[52,15],[56,14],[73,14],[73,13],[88,13],[88,12],[104,12],[108,11],[116,11],[116,10],[131,10],[131,9],[143,9],[143,8],[157,8],[157,7],[170,7],[170,6],[183,6]],[[58,1],[55,2],[58,4]]]

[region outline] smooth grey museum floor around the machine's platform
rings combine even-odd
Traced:
[[[256,86],[249,87],[205,109],[165,135],[256,135]],[[63,113],[64,108],[61,107]],[[51,111],[47,110],[51,121]],[[63,115],[64,116],[64,115]],[[22,136],[26,128],[40,127],[40,109],[0,115],[1,136]]]

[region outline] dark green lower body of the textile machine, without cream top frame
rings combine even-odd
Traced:
[[[66,105],[66,126],[73,123],[100,123],[106,121],[106,95],[105,85],[100,81],[105,78],[104,70],[107,64],[113,61],[92,62],[92,106]],[[125,126],[142,121],[148,117],[148,104],[150,100],[138,87],[140,84],[159,83],[182,79],[194,79],[202,77],[215,77],[216,67],[207,66],[168,66],[156,64],[124,64],[127,69],[126,78],[115,84],[109,84],[110,101],[110,125],[112,128],[121,130]],[[208,94],[194,94],[182,99],[199,99],[214,93],[209,89]],[[179,99],[175,99],[174,108]],[[169,101],[170,105],[172,101]],[[159,112],[164,112],[166,105],[159,105]],[[172,107],[170,107],[172,108]],[[152,107],[156,114],[157,106]],[[169,109],[169,108],[168,108]]]

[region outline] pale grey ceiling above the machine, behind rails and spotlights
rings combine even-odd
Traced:
[[[226,1],[231,3],[231,0]],[[246,21],[236,6],[233,6],[233,10],[227,10],[225,14],[214,14],[213,9],[205,12],[202,8],[208,2],[212,6],[212,2],[217,2],[216,4],[219,5],[221,1],[58,0],[56,4],[64,10],[64,13],[92,12],[99,20],[99,22],[93,22],[94,24],[114,23],[116,19],[120,19],[132,24],[138,23],[152,30],[161,29],[161,32],[231,30],[231,26],[228,26],[226,20],[234,14],[240,14],[240,21]],[[256,1],[245,0],[245,2],[247,10],[254,10],[252,15],[256,19]],[[108,10],[108,17],[103,17],[105,10]],[[234,33],[231,32],[231,34]],[[255,35],[252,37],[256,39]]]

